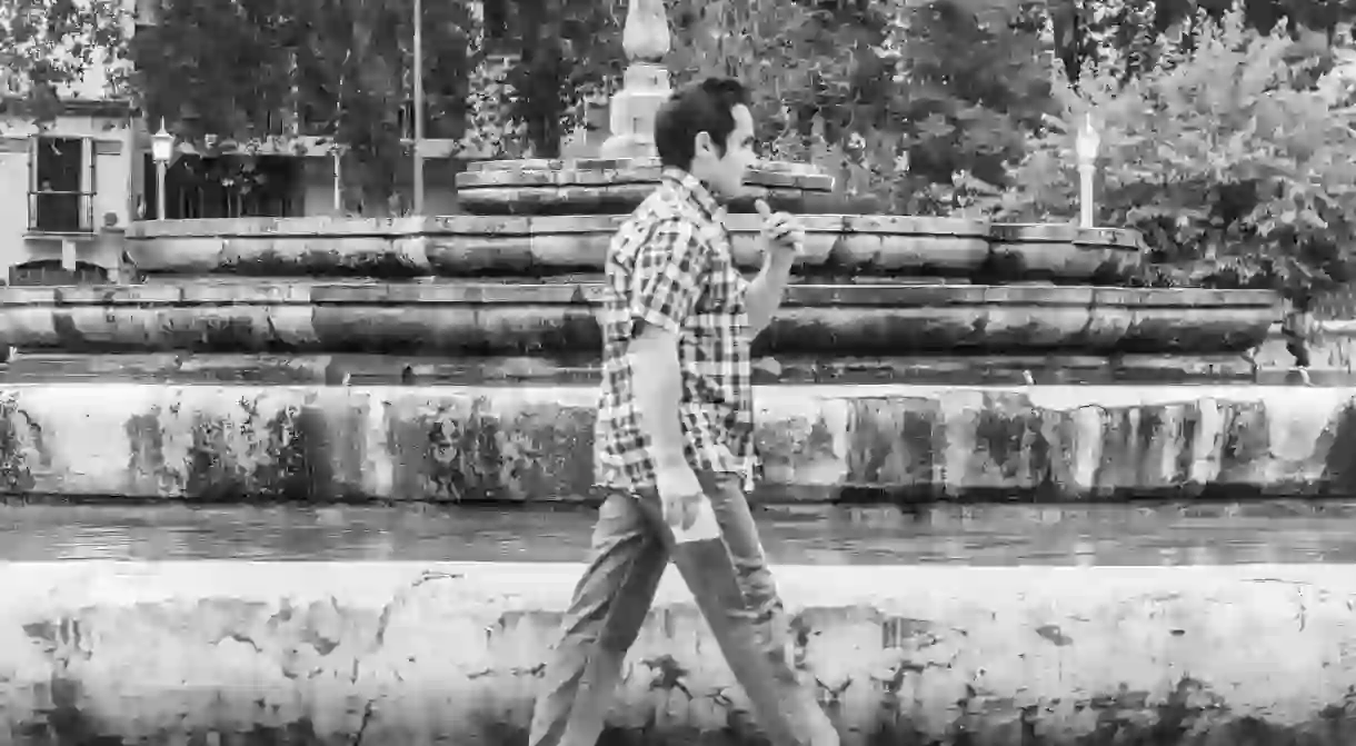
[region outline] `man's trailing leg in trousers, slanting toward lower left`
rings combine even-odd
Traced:
[[[669,564],[662,533],[620,491],[598,509],[593,555],[546,661],[529,746],[594,746]]]

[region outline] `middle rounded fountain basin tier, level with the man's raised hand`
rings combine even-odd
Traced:
[[[521,277],[602,271],[622,216],[452,216],[393,220],[243,218],[134,224],[142,271],[248,277]],[[1132,231],[989,225],[959,218],[807,214],[800,281],[944,277],[1009,283],[1119,282],[1139,258]],[[735,260],[762,262],[759,218],[732,214]]]

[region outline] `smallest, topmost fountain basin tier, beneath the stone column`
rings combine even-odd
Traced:
[[[650,197],[662,170],[658,157],[479,161],[457,175],[457,202],[472,214],[625,214]],[[744,176],[744,198],[824,212],[833,186],[811,165],[761,161]]]

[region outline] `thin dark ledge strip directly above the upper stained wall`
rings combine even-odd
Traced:
[[[355,385],[597,385],[599,354],[401,355],[270,353],[35,353],[0,365],[0,385],[30,382],[334,384]],[[945,355],[877,358],[758,358],[755,384],[1201,384],[1280,385],[1290,366],[1257,368],[1243,354],[1226,355]],[[1356,374],[1311,370],[1319,385],[1356,385]]]

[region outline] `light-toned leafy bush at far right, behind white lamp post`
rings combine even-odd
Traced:
[[[1073,123],[1090,113],[1101,222],[1143,231],[1161,259],[1204,259],[1231,282],[1281,282],[1296,300],[1344,278],[1356,122],[1334,107],[1334,88],[1306,75],[1321,60],[1296,62],[1284,28],[1258,34],[1242,12],[1203,16],[1185,41],[1128,83],[1101,72],[1082,76],[1079,92],[1060,87],[1062,117],[990,209],[1009,220],[1074,216]]]

